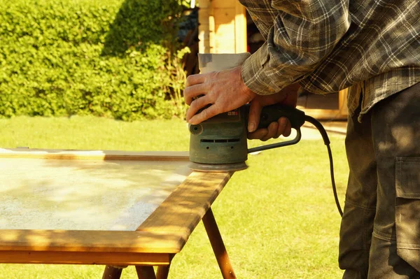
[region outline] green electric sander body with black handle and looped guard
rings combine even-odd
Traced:
[[[297,135],[283,141],[248,149],[247,124],[249,105],[221,113],[197,125],[189,125],[190,168],[195,171],[239,171],[246,169],[248,153],[292,145],[300,141],[304,112],[276,104],[262,108],[258,129],[267,128],[280,117],[287,117]]]

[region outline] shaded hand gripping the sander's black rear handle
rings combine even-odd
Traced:
[[[279,136],[290,136],[292,131],[290,121],[286,117],[281,117],[277,122],[269,124],[267,129],[255,129],[260,122],[260,113],[263,106],[269,106],[274,103],[283,103],[287,106],[296,107],[297,90],[299,85],[293,84],[285,87],[280,92],[272,95],[258,95],[251,101],[248,117],[248,138],[260,139],[267,141],[270,138],[278,138]]]

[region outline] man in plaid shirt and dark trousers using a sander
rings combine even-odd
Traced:
[[[420,278],[420,1],[241,3],[265,44],[242,66],[188,77],[188,122],[251,102],[249,138],[288,136],[286,119],[255,131],[262,106],[295,106],[296,85],[350,87],[343,278]]]

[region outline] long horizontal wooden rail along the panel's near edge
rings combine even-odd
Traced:
[[[177,231],[0,230],[0,251],[177,253]]]

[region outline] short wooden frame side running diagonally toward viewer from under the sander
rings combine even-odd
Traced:
[[[232,174],[191,173],[137,230],[172,231],[186,241]]]

